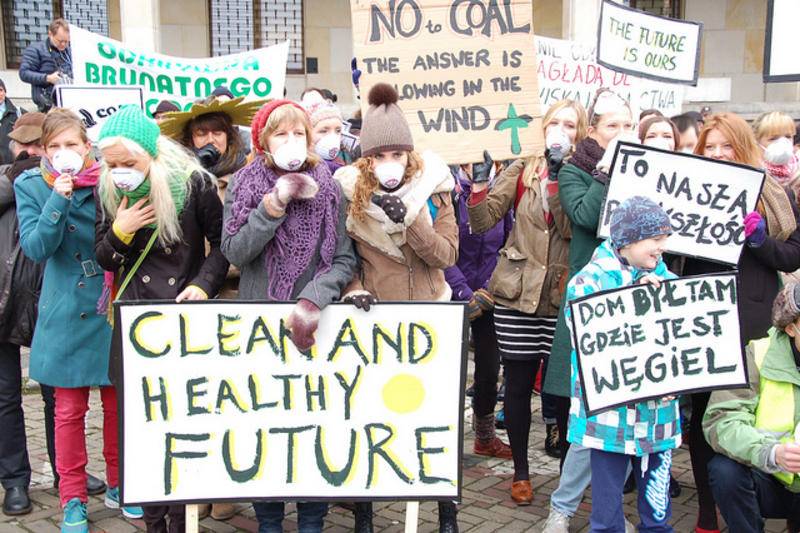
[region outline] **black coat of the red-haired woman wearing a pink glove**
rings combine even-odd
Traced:
[[[795,218],[798,212],[792,202]],[[800,224],[800,222],[798,222]],[[780,290],[780,272],[800,268],[800,226],[786,241],[767,237],[758,248],[745,245],[739,258],[739,323],[746,344],[767,336],[772,327],[772,302]],[[686,258],[683,275],[707,274],[731,270],[730,267]]]

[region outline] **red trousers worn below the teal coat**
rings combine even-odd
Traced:
[[[86,412],[89,410],[89,387],[56,387],[56,469],[61,506],[72,498],[86,503]],[[117,446],[117,391],[100,387],[103,402],[103,457],[106,460],[106,483],[119,485],[119,448]]]

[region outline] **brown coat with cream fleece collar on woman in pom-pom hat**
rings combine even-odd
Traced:
[[[449,301],[450,287],[444,269],[458,258],[458,225],[449,191],[454,180],[444,162],[437,156],[423,154],[425,169],[413,178],[419,190],[432,194],[415,195],[406,201],[405,242],[397,245],[383,230],[380,222],[369,215],[364,221],[347,217],[347,232],[356,244],[361,258],[352,282],[343,295],[354,291],[369,291],[383,301]],[[355,167],[343,167],[335,176],[342,184],[345,197],[353,198],[358,180]],[[436,206],[432,220],[428,198]]]

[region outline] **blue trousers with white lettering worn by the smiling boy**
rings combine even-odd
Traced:
[[[672,533],[669,519],[669,472],[672,450],[631,457],[622,453],[592,450],[592,533],[624,533],[622,487],[633,459],[639,508],[639,533]],[[646,464],[645,464],[646,463]]]

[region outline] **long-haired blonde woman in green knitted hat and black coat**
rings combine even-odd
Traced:
[[[112,299],[213,298],[228,262],[219,249],[222,203],[212,179],[137,107],[124,107],[103,124],[98,147],[103,173],[95,251],[106,271],[98,310],[110,309]],[[112,353],[114,380],[120,365]],[[181,532],[184,514],[183,505],[145,506],[147,531],[167,531],[169,516],[169,531]]]

